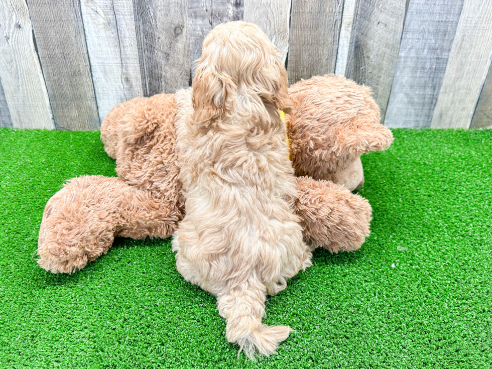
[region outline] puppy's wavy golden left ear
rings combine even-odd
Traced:
[[[234,82],[230,77],[222,75],[203,65],[196,69],[192,83],[193,120],[202,122],[223,113],[229,102],[234,98]]]

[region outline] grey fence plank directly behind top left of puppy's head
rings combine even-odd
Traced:
[[[242,21],[243,13],[243,0],[188,0],[192,77],[207,33],[220,23]]]

